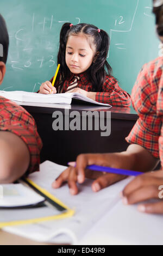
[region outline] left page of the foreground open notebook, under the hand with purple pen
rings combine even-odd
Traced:
[[[129,181],[123,180],[95,193],[91,190],[92,180],[87,179],[83,185],[79,185],[80,193],[71,196],[67,185],[57,190],[52,188],[52,182],[65,168],[45,161],[40,165],[40,172],[30,174],[29,179],[74,209],[75,214],[72,217],[3,229],[37,241],[77,244],[121,200],[119,193]]]

